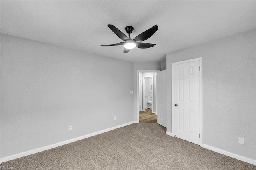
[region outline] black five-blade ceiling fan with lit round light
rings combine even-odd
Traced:
[[[132,33],[132,31],[134,29],[132,26],[127,26],[126,28],[124,28],[124,30],[126,30],[126,32],[129,34],[129,38],[124,33],[122,33],[120,30],[118,30],[118,28],[116,28],[115,26],[109,24],[108,27],[110,28],[110,30],[112,30],[112,32],[114,32],[124,42],[110,44],[110,45],[101,45],[103,47],[124,45],[124,53],[128,53],[130,51],[130,49],[133,49],[135,47],[150,48],[150,47],[154,47],[154,45],[156,45],[156,44],[152,44],[152,43],[142,43],[142,41],[150,38],[158,30],[157,25],[154,25],[150,29],[142,32],[141,34],[136,36],[134,39],[132,39],[130,37],[130,34]]]

